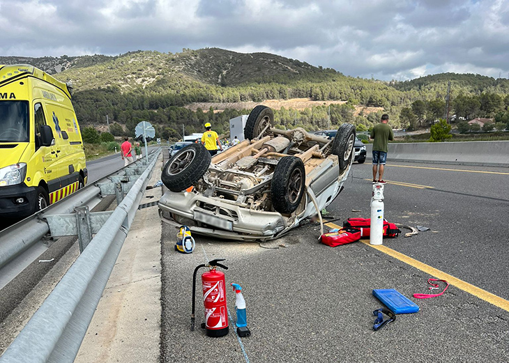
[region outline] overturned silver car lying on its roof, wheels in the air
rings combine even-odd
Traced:
[[[161,219],[219,238],[270,240],[332,203],[354,160],[354,125],[328,139],[278,130],[273,120],[270,108],[254,107],[240,144],[212,158],[201,144],[173,155],[161,174],[169,189]]]

